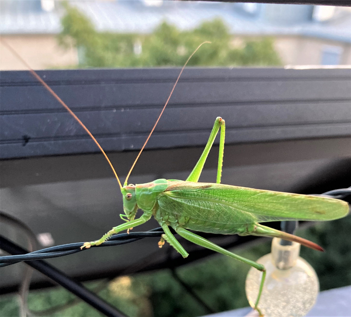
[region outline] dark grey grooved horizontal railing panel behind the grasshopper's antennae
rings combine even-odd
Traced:
[[[179,69],[40,71],[107,151],[140,149]],[[217,116],[227,144],[351,135],[350,69],[190,68],[147,148],[201,146]],[[28,72],[1,72],[0,157],[98,149]]]

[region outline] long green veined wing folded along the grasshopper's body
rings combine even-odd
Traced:
[[[158,198],[160,207],[177,217],[198,220],[199,224],[201,221],[215,226],[219,222],[233,226],[282,220],[324,221],[342,218],[349,212],[346,202],[334,198],[224,184],[169,183]]]

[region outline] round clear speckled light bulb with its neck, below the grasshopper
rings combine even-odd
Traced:
[[[316,272],[300,254],[300,244],[281,245],[273,238],[272,251],[259,258],[267,270],[258,308],[266,317],[305,316],[316,303],[319,282]],[[262,272],[251,268],[246,277],[246,297],[251,307],[257,299]]]

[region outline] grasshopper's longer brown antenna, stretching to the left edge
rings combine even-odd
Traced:
[[[100,149],[100,151],[102,152],[102,154],[104,154],[108,164],[110,164],[112,170],[113,170],[113,173],[114,173],[114,176],[117,178],[117,181],[118,181],[118,184],[119,184],[119,187],[122,189],[122,184],[118,178],[118,175],[115,171],[115,169],[113,168],[113,165],[111,163],[111,161],[109,160],[109,158],[107,157],[105,151],[102,149],[102,147],[100,146],[99,142],[95,139],[95,137],[91,134],[91,132],[88,130],[88,128],[83,124],[83,122],[81,122],[79,120],[79,118],[74,114],[74,112],[69,109],[69,107],[66,105],[66,103],[64,103],[61,98],[47,85],[47,83],[41,79],[41,77],[32,69],[31,66],[29,66],[27,64],[27,62],[6,42],[4,41],[3,39],[1,39],[1,42],[29,69],[29,72],[32,73],[32,75],[38,79],[38,81],[57,99],[57,101],[59,103],[62,104],[62,106],[64,106],[66,108],[66,110],[69,112],[69,114],[71,114],[75,120],[78,121],[78,123],[84,128],[84,130],[89,134],[89,136],[94,140],[94,142],[96,143],[96,145],[98,146],[98,148]]]

